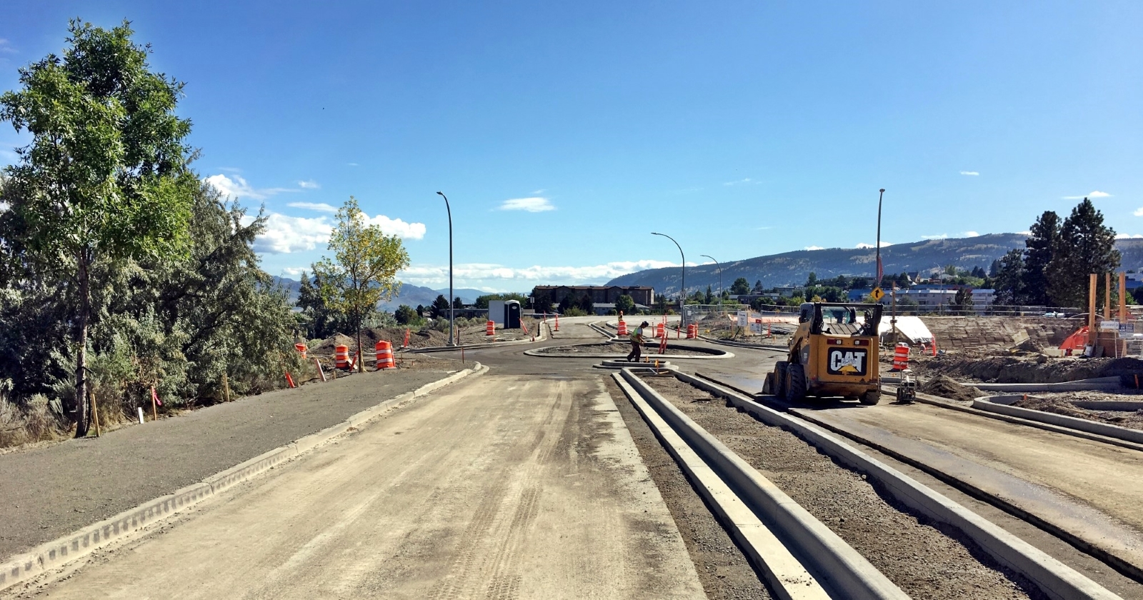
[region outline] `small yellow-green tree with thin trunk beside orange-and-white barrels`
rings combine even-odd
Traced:
[[[361,323],[376,312],[377,304],[391,299],[401,289],[397,272],[409,266],[409,253],[401,239],[385,235],[370,225],[352,195],[337,210],[337,226],[329,234],[334,258],[321,257],[313,272],[322,279],[321,297],[345,315],[357,333],[358,355],[361,353]],[[358,362],[358,371],[365,361]]]

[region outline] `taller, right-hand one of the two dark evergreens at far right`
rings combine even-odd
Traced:
[[[1088,274],[1108,273],[1118,266],[1116,232],[1103,224],[1103,213],[1085,198],[1064,219],[1053,245],[1047,265],[1048,297],[1056,306],[1084,306]]]

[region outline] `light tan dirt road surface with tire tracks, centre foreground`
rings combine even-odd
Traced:
[[[462,382],[237,488],[7,597],[705,598],[598,375]]]

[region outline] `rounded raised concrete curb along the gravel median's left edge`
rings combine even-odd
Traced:
[[[713,465],[727,482],[737,488],[741,497],[750,505],[751,510],[772,530],[777,533],[786,547],[793,550],[794,555],[801,560],[802,565],[810,568],[815,578],[826,586],[833,598],[909,598],[869,560],[838,537],[833,530],[825,527],[790,496],[786,496],[742,457],[674,408],[670,401],[647,386],[633,373],[629,369],[623,369],[620,373],[648,403],[655,407],[664,421],[670,423],[674,431],[687,440],[700,456]]]

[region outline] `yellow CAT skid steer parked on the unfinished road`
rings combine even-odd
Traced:
[[[766,374],[762,393],[790,401],[807,395],[881,400],[877,326],[880,304],[807,302],[798,314],[786,360]]]

